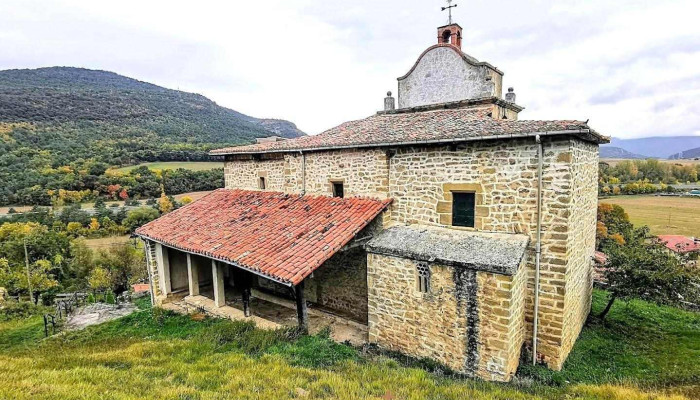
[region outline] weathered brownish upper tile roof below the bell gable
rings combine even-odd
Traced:
[[[533,134],[577,135],[585,140],[605,143],[607,138],[581,121],[499,120],[488,116],[490,108],[440,109],[422,112],[377,114],[345,122],[312,136],[279,142],[212,150],[213,155],[290,152],[335,148],[410,145],[510,138]]]

